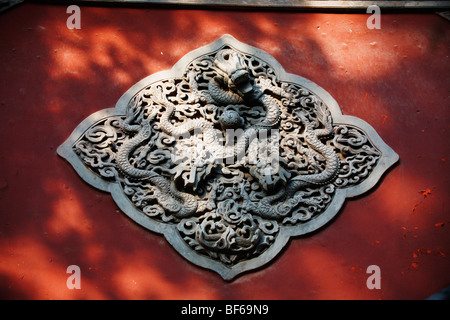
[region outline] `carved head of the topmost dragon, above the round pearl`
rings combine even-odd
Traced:
[[[253,90],[242,55],[232,49],[223,49],[217,52],[214,64],[240,92],[247,94]]]

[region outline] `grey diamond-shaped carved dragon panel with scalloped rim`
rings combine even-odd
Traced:
[[[324,89],[229,35],[136,83],[58,154],[224,279],[325,225],[398,160]]]

